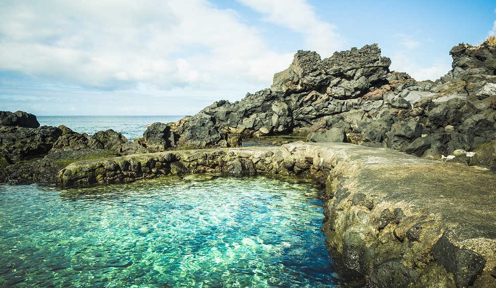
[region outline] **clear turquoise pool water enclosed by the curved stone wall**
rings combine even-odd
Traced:
[[[0,185],[0,286],[338,285],[316,187],[204,177]]]

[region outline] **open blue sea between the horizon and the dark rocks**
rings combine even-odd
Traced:
[[[112,129],[132,141],[143,137],[147,125],[176,122],[184,116],[36,116],[41,126],[64,125],[78,133],[95,134]]]

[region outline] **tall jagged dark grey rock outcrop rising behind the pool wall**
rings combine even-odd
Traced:
[[[228,141],[231,135],[343,129],[352,143],[417,156],[472,151],[496,139],[496,46],[460,44],[450,54],[453,69],[444,77],[417,82],[390,71],[391,61],[377,44],[323,60],[298,51],[289,68],[274,75],[270,89],[235,103],[218,101],[174,124],[172,132],[184,143],[206,136],[208,145],[194,147],[223,147],[237,145]]]

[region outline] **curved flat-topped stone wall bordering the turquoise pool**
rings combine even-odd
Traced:
[[[496,285],[496,178],[478,167],[345,143],[290,143],[81,161],[57,179],[74,186],[190,173],[322,183],[329,251],[370,286]]]

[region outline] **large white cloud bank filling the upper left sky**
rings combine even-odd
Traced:
[[[3,1],[0,18],[0,70],[83,87],[263,88],[293,55],[206,0]]]

